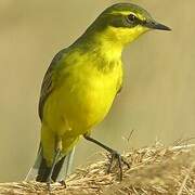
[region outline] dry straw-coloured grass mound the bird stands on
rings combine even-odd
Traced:
[[[118,181],[117,165],[106,174],[108,160],[78,169],[67,180],[67,187],[52,185],[50,194],[195,194],[195,145],[131,150],[125,155],[131,169],[123,167],[123,180]],[[0,184],[0,194],[47,194],[46,184]]]

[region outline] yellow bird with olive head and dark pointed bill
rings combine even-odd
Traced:
[[[27,178],[34,176],[48,184],[66,178],[75,146],[83,136],[110,153],[108,172],[118,160],[122,179],[122,165],[130,167],[129,162],[92,138],[91,131],[103,121],[121,90],[123,49],[152,29],[171,30],[140,5],[116,3],[54,56],[41,86],[40,145]]]

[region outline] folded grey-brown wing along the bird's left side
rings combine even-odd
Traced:
[[[42,120],[43,106],[47,98],[53,90],[52,84],[52,75],[53,68],[57,65],[57,62],[62,58],[63,54],[66,52],[66,49],[61,50],[52,60],[42,81],[40,100],[39,100],[39,117]]]

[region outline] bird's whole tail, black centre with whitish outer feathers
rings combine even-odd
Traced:
[[[70,173],[70,168],[73,164],[75,147],[69,152],[67,156],[64,156],[54,167],[52,173],[52,180],[61,181],[66,179],[66,177]],[[30,171],[26,177],[26,181],[36,180],[39,182],[47,182],[48,176],[50,173],[51,167],[48,167],[46,159],[42,156],[42,146],[39,146],[39,151],[37,154],[37,159]]]

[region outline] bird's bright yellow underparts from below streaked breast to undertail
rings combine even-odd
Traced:
[[[83,57],[82,57],[83,58]],[[41,143],[43,156],[52,164],[57,141],[66,155],[81,134],[104,119],[121,84],[121,64],[100,70],[93,64],[61,69],[43,107]]]

